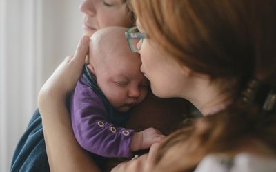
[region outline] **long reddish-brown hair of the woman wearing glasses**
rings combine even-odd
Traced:
[[[155,158],[157,171],[193,171],[207,154],[246,150],[242,144],[250,139],[275,153],[275,111],[264,114],[263,101],[246,103],[241,93],[252,78],[276,86],[276,1],[131,2],[141,27],[168,58],[213,80],[228,80],[235,97],[227,109],[166,138]]]

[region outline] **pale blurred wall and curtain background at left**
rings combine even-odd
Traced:
[[[82,34],[81,0],[0,0],[0,171],[37,108],[37,94]]]

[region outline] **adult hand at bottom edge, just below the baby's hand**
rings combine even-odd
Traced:
[[[111,172],[150,172],[153,170],[154,167],[154,160],[157,154],[157,150],[159,147],[159,142],[152,144],[150,147],[150,151],[147,154],[141,155],[138,158],[130,160],[128,162],[123,162]]]

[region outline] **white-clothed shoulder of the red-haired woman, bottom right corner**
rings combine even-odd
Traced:
[[[255,155],[253,153],[239,153],[235,156],[226,154],[207,155],[195,172],[275,172],[276,157]]]

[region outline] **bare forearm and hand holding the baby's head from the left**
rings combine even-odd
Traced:
[[[74,56],[57,67],[39,92],[39,112],[51,171],[99,171],[72,131],[66,96],[75,88],[88,53],[89,37],[83,36]]]

